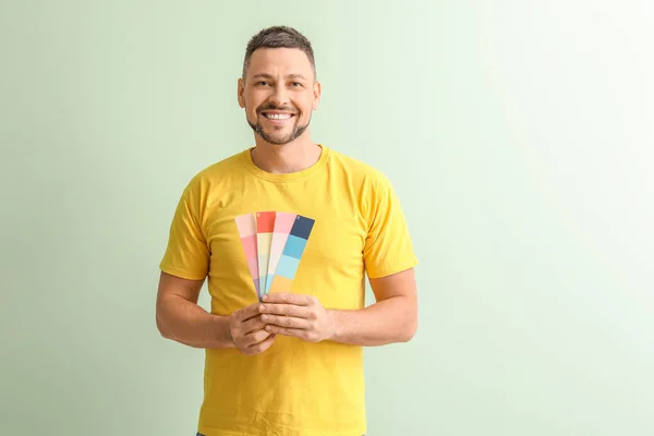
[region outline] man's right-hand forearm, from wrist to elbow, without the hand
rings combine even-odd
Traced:
[[[393,296],[358,311],[327,311],[331,324],[329,340],[375,347],[408,342],[417,329],[415,301]]]

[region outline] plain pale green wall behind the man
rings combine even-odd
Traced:
[[[654,434],[653,20],[3,1],[0,435],[194,435],[203,352],[159,337],[157,266],[189,179],[253,143],[235,84],[272,24],[314,44],[314,140],[388,174],[421,261],[419,334],[366,350],[368,435]]]

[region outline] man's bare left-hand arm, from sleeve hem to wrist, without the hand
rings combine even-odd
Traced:
[[[157,292],[157,328],[167,339],[194,348],[233,348],[227,316],[197,304],[204,280],[161,272]]]

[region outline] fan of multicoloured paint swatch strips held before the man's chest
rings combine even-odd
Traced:
[[[315,220],[283,211],[257,211],[235,221],[259,300],[269,292],[290,291]]]

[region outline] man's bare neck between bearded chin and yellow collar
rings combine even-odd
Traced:
[[[257,141],[252,150],[252,161],[266,172],[290,173],[315,165],[320,159],[320,153],[317,144],[301,138],[283,145]]]

